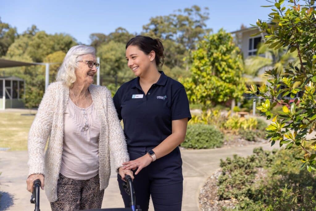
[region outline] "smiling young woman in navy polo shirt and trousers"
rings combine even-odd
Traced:
[[[130,161],[123,169],[135,171],[137,205],[143,211],[152,197],[155,210],[181,210],[183,176],[179,144],[191,119],[185,88],[158,68],[163,65],[159,39],[136,36],[126,44],[128,66],[137,76],[123,84],[114,96]],[[121,187],[125,207],[129,198]]]

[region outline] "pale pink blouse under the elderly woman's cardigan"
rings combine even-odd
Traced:
[[[99,171],[99,135],[101,125],[93,102],[79,108],[69,98],[64,113],[64,143],[60,173],[65,177],[86,180]]]

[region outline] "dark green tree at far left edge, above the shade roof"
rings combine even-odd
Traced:
[[[0,18],[0,57],[5,56],[17,36],[16,28],[12,28],[8,23],[3,23]]]

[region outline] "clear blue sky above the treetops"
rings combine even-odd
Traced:
[[[16,27],[18,33],[35,24],[46,33],[70,34],[89,44],[91,33],[109,34],[118,27],[140,33],[151,17],[168,15],[193,4],[209,8],[210,19],[206,23],[214,32],[220,28],[231,32],[241,24],[249,26],[257,18],[266,20],[270,13],[270,8],[260,7],[270,4],[265,0],[1,0],[0,17],[2,22]]]

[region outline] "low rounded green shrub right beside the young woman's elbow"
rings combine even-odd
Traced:
[[[188,125],[185,141],[181,146],[193,149],[221,147],[224,135],[214,126],[205,124]]]

